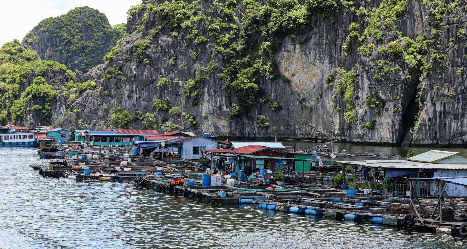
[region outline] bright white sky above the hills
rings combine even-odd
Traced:
[[[113,26],[127,23],[127,10],[141,0],[0,0],[0,46],[20,42],[39,21],[66,14],[75,7],[88,6],[107,16]]]

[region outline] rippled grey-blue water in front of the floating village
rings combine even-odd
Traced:
[[[0,149],[0,248],[467,248],[467,239],[210,206],[131,182],[42,178],[35,149]]]

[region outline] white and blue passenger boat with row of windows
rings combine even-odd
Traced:
[[[0,127],[0,146],[39,146],[38,134],[27,127]]]

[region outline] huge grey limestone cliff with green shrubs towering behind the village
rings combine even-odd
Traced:
[[[62,120],[461,146],[466,11],[430,0],[143,1],[102,64],[76,74],[96,86],[78,92]],[[58,56],[45,40],[32,46]]]

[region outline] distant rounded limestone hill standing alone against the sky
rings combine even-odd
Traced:
[[[122,36],[119,26],[112,28],[105,14],[90,7],[77,7],[67,14],[42,20],[22,43],[36,50],[42,60],[86,72],[102,64],[102,57]]]

